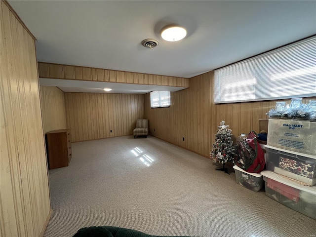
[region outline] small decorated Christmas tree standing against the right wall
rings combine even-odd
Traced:
[[[214,162],[217,161],[223,165],[223,168],[217,170],[223,170],[226,173],[228,173],[227,168],[225,168],[226,162],[231,161],[234,163],[237,152],[233,145],[232,129],[228,127],[229,125],[225,125],[225,121],[220,123],[217,133],[215,134],[216,138],[213,144],[213,150],[210,153],[210,158],[212,158]]]

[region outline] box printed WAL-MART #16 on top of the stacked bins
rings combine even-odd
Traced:
[[[271,118],[267,145],[315,155],[316,121]]]

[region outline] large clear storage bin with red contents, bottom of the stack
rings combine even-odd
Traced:
[[[279,203],[316,219],[316,187],[300,185],[272,171],[261,172],[266,195]]]

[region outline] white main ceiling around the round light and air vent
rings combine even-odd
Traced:
[[[191,78],[316,34],[316,1],[8,2],[37,38],[40,62],[174,77]],[[185,27],[187,37],[162,40],[168,24]],[[159,45],[143,47],[147,38]]]

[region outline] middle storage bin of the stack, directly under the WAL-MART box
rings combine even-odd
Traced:
[[[266,145],[267,169],[310,186],[316,184],[316,156]]]

